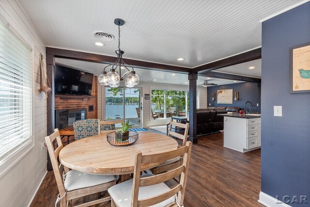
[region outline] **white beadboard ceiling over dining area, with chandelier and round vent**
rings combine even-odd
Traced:
[[[261,47],[263,18],[302,0],[19,0],[48,47],[195,67]],[[94,32],[110,32],[113,41]],[[100,42],[100,41],[99,41]],[[177,58],[185,58],[177,61]]]

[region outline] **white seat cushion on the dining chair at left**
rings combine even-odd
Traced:
[[[82,173],[77,170],[70,170],[64,180],[64,188],[67,191],[73,191],[81,188],[109,183],[115,179],[116,176],[114,175],[92,175]]]

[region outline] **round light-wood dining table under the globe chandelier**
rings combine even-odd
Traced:
[[[101,134],[66,145],[59,153],[59,160],[65,167],[85,173],[129,175],[134,171],[137,151],[147,155],[177,148],[176,140],[157,133],[141,131],[138,141],[129,146],[111,145],[107,141],[107,135]],[[144,164],[141,170],[147,170],[159,164],[161,163]]]

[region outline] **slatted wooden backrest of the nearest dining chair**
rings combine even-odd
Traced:
[[[180,147],[176,150],[166,152],[166,153],[154,154],[154,155],[142,155],[140,151],[137,152],[135,168],[134,168],[134,177],[133,177],[133,190],[132,190],[132,197],[131,197],[132,207],[152,206],[162,201],[165,201],[176,194],[177,194],[177,200],[179,204],[183,206],[191,146],[192,146],[192,143],[187,142],[185,146]],[[171,171],[164,173],[164,174],[140,178],[141,164],[163,162],[168,159],[177,158],[179,156],[183,157],[183,162],[181,166],[176,167],[175,169],[172,169]],[[177,175],[181,175],[180,183],[174,188],[172,188],[171,190],[166,191],[160,195],[156,195],[154,197],[138,200],[139,187],[151,186],[151,185],[155,185],[158,183],[162,183],[167,180],[170,180],[171,178]]]

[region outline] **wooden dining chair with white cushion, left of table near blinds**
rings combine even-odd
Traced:
[[[54,149],[53,141],[56,139],[58,147]],[[114,175],[92,175],[82,173],[76,170],[70,170],[58,162],[59,152],[62,150],[62,140],[58,131],[50,136],[45,137],[47,143],[47,150],[53,166],[54,175],[56,178],[59,195],[56,200],[56,204],[60,202],[61,207],[72,206],[72,200],[80,198],[93,193],[101,193],[107,191],[111,186],[115,185],[116,176]],[[65,171],[65,174],[63,173]],[[87,207],[95,204],[110,201],[111,197],[104,197],[97,199],[81,206]]]

